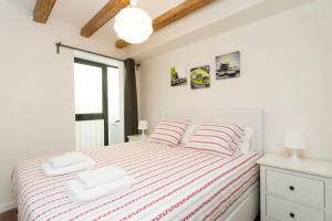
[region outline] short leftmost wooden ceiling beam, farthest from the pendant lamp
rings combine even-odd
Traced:
[[[46,23],[56,0],[37,0],[33,10],[33,21]]]

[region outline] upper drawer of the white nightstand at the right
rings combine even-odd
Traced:
[[[324,208],[324,182],[267,170],[267,191],[286,199]]]

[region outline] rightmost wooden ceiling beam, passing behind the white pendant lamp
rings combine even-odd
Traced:
[[[187,17],[188,14],[197,11],[198,9],[206,7],[207,4],[214,1],[215,0],[185,0],[176,8],[173,8],[169,11],[154,19],[153,21],[154,32],[167,27],[168,24],[172,24],[173,22],[180,20],[181,18]],[[123,49],[127,45],[129,45],[129,43],[123,40],[117,40],[115,42],[115,46],[117,49]]]

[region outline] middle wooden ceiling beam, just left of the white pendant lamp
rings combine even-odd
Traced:
[[[122,9],[131,3],[129,0],[111,0],[103,7],[82,29],[82,36],[91,36],[111,19],[113,19]]]

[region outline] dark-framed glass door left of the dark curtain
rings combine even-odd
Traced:
[[[76,149],[108,145],[107,65],[74,61]]]

